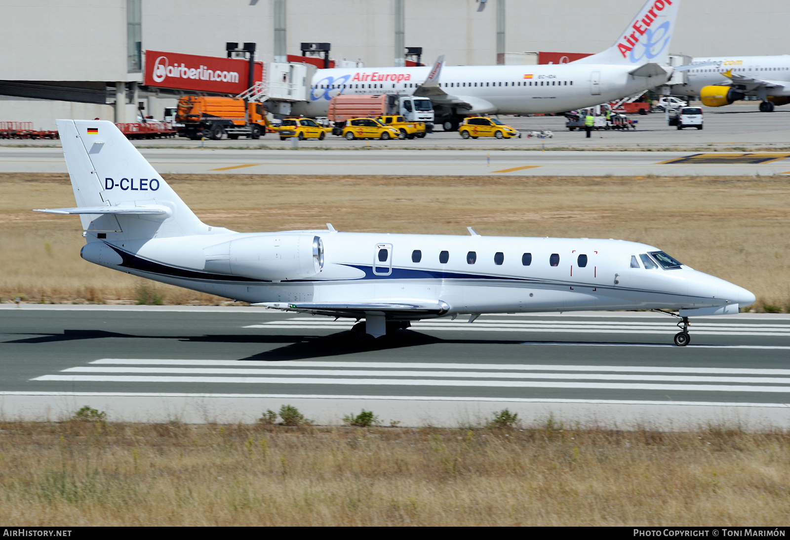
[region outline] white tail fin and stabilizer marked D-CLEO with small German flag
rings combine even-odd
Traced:
[[[79,214],[88,242],[213,232],[112,122],[56,122],[77,205],[37,212]]]

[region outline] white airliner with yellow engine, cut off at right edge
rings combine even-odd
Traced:
[[[761,112],[790,103],[790,54],[694,58],[687,82],[672,85],[677,96],[700,96],[708,107],[723,107],[756,96]]]

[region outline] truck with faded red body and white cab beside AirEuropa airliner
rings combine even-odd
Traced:
[[[348,118],[400,115],[406,122],[425,122],[425,130],[431,133],[434,126],[434,107],[431,99],[415,96],[335,96],[329,100],[327,117],[333,122]]]

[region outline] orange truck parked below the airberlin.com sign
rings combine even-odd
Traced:
[[[265,135],[269,120],[263,103],[226,97],[183,96],[175,113],[179,136],[193,140],[207,137],[218,141],[239,136],[258,139]]]

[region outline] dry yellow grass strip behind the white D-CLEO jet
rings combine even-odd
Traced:
[[[167,181],[206,223],[236,231],[340,231],[623,238],[790,307],[785,177],[305,177],[179,175]],[[0,298],[134,301],[142,280],[88,264],[65,174],[0,174]],[[167,303],[216,302],[157,286]]]

